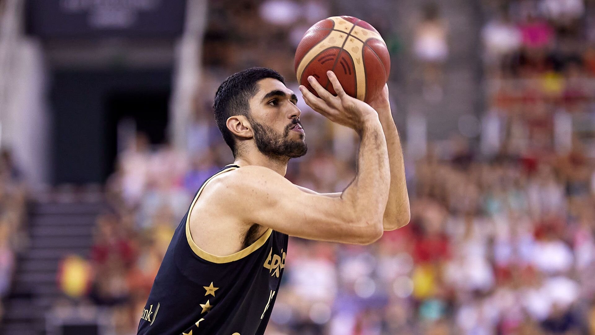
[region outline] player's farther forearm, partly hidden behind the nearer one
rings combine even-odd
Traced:
[[[411,216],[405,179],[405,162],[403,161],[399,131],[394,124],[390,109],[389,113],[380,115],[380,123],[386,138],[390,165],[389,197],[384,210],[383,225],[384,230],[394,230],[408,224]]]

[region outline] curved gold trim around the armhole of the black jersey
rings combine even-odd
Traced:
[[[235,166],[230,166],[230,168],[221,170],[220,172],[215,173],[215,175],[211,176],[211,178],[206,179],[204,184],[202,184],[200,190],[198,190],[198,193],[196,193],[196,197],[192,201],[192,204],[190,204],[190,210],[188,211],[188,217],[186,218],[186,240],[188,241],[190,249],[192,249],[196,256],[199,256],[200,258],[212,263],[229,263],[233,262],[234,260],[245,258],[246,256],[250,255],[250,253],[252,253],[254,250],[258,249],[259,247],[262,247],[264,243],[268,240],[268,237],[270,237],[271,233],[273,232],[273,229],[268,228],[267,231],[265,231],[264,234],[262,234],[261,237],[259,237],[258,240],[256,240],[254,243],[250,244],[248,247],[240,250],[239,252],[232,253],[231,255],[227,256],[217,256],[205,252],[205,250],[202,250],[199,246],[196,245],[196,243],[194,243],[194,240],[192,240],[192,235],[190,235],[190,214],[192,213],[192,209],[196,204],[196,200],[198,200],[198,197],[201,195],[203,188],[205,188],[205,185],[209,181],[211,181],[211,179],[215,178],[218,175],[221,175],[221,173],[235,169],[237,169]]]

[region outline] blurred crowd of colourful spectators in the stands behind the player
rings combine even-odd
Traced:
[[[491,13],[482,33],[488,111],[505,125],[497,150],[486,155],[453,135],[417,162],[405,157],[411,222],[371,246],[290,239],[268,335],[595,334],[594,153],[577,136],[559,150],[553,126],[556,113],[591,113],[593,3],[482,4]],[[210,107],[218,84],[255,65],[292,79],[301,34],[328,16],[317,1],[227,5],[211,8],[187,148],[137,134],[108,181],[114,210],[97,222],[87,296],[111,306],[120,334],[135,333],[193,194],[233,162]],[[279,15],[261,15],[266,6]],[[441,64],[447,18],[426,11],[412,52]],[[429,67],[427,76],[437,73]],[[299,107],[310,152],[290,162],[287,178],[342,191],[355,175],[353,135]]]

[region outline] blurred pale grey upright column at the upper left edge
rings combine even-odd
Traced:
[[[0,13],[0,147],[39,185],[49,162],[46,69],[40,42],[24,35],[25,1],[4,0]]]

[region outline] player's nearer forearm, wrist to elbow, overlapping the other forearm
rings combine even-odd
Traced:
[[[358,133],[358,171],[342,198],[352,206],[356,219],[380,223],[389,197],[390,171],[386,138],[377,115],[366,120]]]

